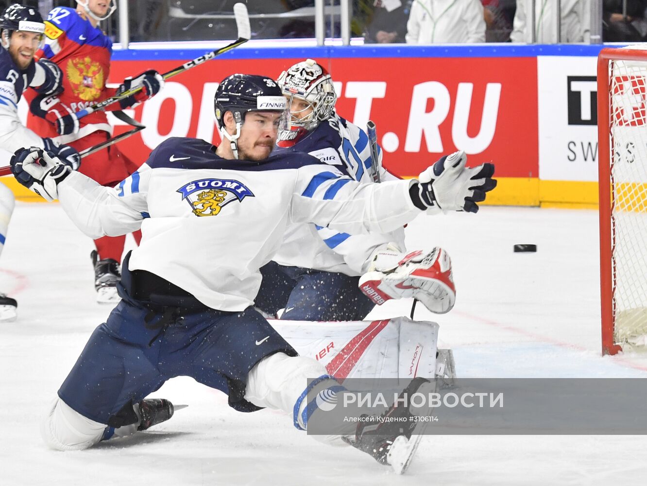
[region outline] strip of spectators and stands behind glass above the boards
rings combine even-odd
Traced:
[[[241,0],[129,0],[130,42],[212,41],[236,37]],[[351,36],[364,43],[557,41],[556,0],[350,0]],[[0,0],[3,7],[15,3]],[[23,0],[47,14],[74,0]],[[314,0],[248,0],[252,39],[314,38]],[[591,0],[561,0],[562,43],[589,42]],[[647,0],[602,0],[602,41],[647,40]],[[325,37],[340,38],[340,0],[325,0]],[[118,15],[104,30],[118,41]]]

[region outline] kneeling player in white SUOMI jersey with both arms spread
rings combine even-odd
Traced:
[[[362,184],[305,153],[270,155],[285,107],[269,77],[234,74],[215,93],[223,143],[170,138],[113,189],[46,151],[16,152],[16,179],[58,198],[88,236],[142,230],[139,247],[124,260],[122,301],[90,337],[43,421],[50,447],[87,448],[168,419],[168,403],[151,406],[144,397],[179,375],[227,393],[236,410],[276,408],[307,428],[321,411],[309,397],[341,387],[320,362],[296,355],[252,307],[259,268],[280,247],[285,228],[312,222],[389,232],[437,201],[464,205],[473,192],[465,181],[491,181],[456,166],[439,176],[432,167],[419,181]],[[333,187],[334,196],[325,197]],[[417,378],[404,393],[427,384]],[[146,423],[142,408],[149,410]],[[406,420],[411,411],[400,401],[388,413]],[[387,464],[414,432],[415,422],[406,423],[383,421],[377,436],[353,426],[344,437]]]

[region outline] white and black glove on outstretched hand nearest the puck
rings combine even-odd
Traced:
[[[409,190],[411,200],[427,214],[447,211],[476,213],[476,203],[485,201],[485,193],[496,187],[494,164],[466,168],[467,156],[460,150],[444,155],[418,177]]]

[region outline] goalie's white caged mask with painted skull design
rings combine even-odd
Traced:
[[[313,59],[296,63],[281,72],[278,83],[288,100],[292,126],[292,132],[280,133],[280,142],[296,143],[298,138],[333,114],[337,101],[333,80]],[[298,103],[299,100],[305,104]]]

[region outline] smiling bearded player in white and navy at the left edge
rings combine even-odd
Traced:
[[[61,86],[61,70],[56,64],[34,62],[44,32],[43,18],[34,8],[14,4],[0,16],[0,166],[8,164],[5,162],[16,149],[28,146],[52,151],[74,169],[81,162],[76,150],[39,137],[18,117],[18,101],[27,86],[42,94],[54,93]],[[14,193],[0,182],[0,253],[14,205]],[[0,322],[16,320],[16,316],[16,300],[0,294]]]

